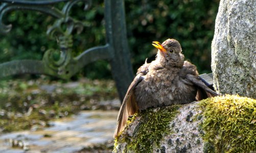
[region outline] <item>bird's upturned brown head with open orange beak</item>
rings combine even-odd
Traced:
[[[177,40],[167,39],[163,43],[153,41],[152,45],[158,49],[157,60],[159,60],[161,64],[172,67],[182,67],[184,55],[181,54],[182,49]]]

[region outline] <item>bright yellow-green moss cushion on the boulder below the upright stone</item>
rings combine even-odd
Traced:
[[[202,123],[205,131],[203,140],[211,144],[205,145],[205,152],[256,150],[255,99],[225,95],[204,99],[199,105],[205,117]]]

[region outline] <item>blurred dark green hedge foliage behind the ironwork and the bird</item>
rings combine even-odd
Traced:
[[[63,3],[55,5],[60,10]],[[141,66],[146,58],[153,60],[156,49],[152,41],[177,39],[183,54],[198,67],[199,73],[211,71],[211,43],[219,1],[161,0],[125,1],[127,37],[133,69]],[[105,44],[104,2],[92,1],[89,10],[83,4],[74,6],[71,16],[84,21],[85,29],[74,34],[74,56],[92,46]],[[12,11],[4,15],[5,24],[13,28],[7,35],[0,35],[0,61],[42,59],[49,48],[58,48],[56,40],[46,36],[54,18],[35,11]],[[107,61],[91,63],[75,78],[111,78]]]

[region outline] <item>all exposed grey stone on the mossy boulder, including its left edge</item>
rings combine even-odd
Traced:
[[[160,141],[160,148],[154,146],[153,152],[203,152],[204,142],[200,135],[202,131],[199,129],[199,124],[202,123],[203,118],[197,117],[201,113],[197,104],[198,102],[194,102],[179,108],[179,113],[169,124],[171,134]],[[140,117],[136,117],[119,140],[125,135],[133,135],[140,120]],[[116,146],[117,152],[123,152],[126,145],[126,142],[119,142]]]

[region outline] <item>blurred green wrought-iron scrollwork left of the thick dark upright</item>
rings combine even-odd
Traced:
[[[66,2],[63,9],[60,11],[53,7],[53,4]],[[50,38],[55,39],[60,49],[48,49],[44,53],[42,61],[35,60],[20,60],[10,61],[0,64],[0,78],[8,75],[20,73],[40,73],[54,75],[62,79],[72,77],[87,63],[98,59],[111,59],[110,46],[92,47],[85,50],[78,57],[72,56],[73,36],[72,32],[77,31],[80,34],[83,31],[84,24],[82,21],[76,20],[69,16],[69,11],[78,2],[84,3],[84,10],[89,9],[90,0],[55,0],[55,1],[32,1],[32,0],[4,0],[0,6],[0,32],[7,34],[11,31],[11,24],[3,23],[3,16],[10,11],[15,10],[33,10],[39,11],[47,15],[55,17],[57,20],[46,32]],[[61,28],[65,24],[66,28]],[[57,39],[56,39],[57,38]],[[58,60],[53,58],[55,52],[60,52]]]

